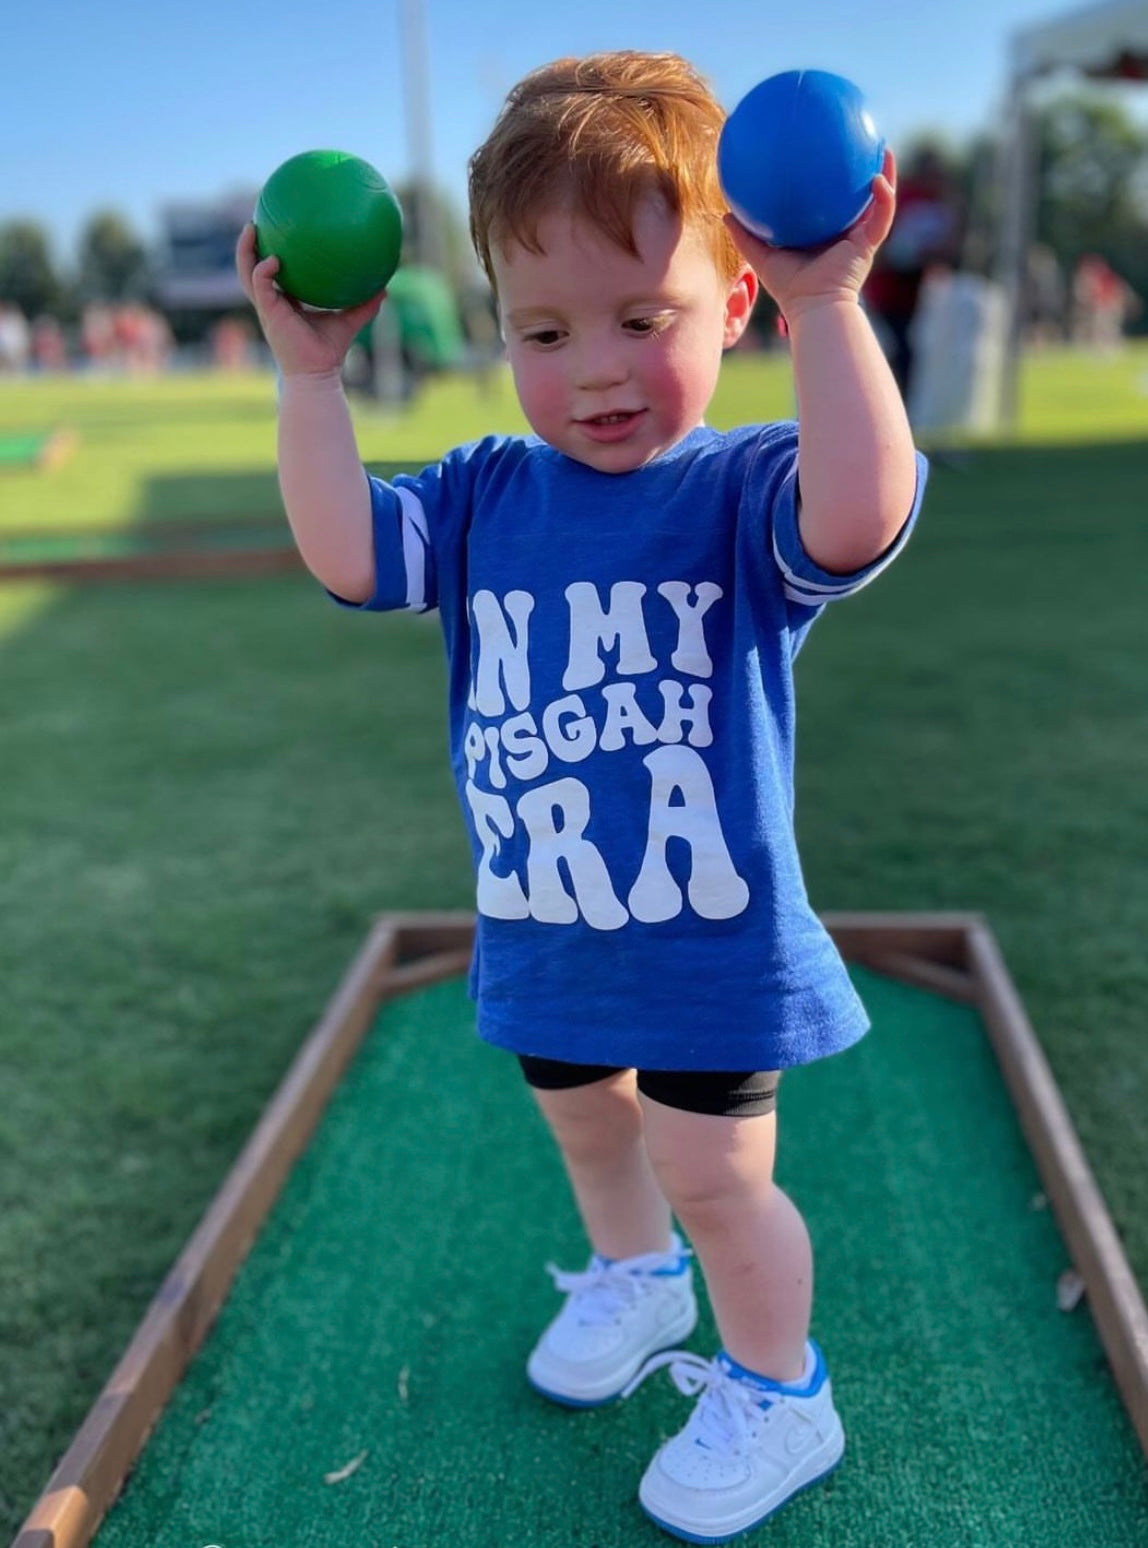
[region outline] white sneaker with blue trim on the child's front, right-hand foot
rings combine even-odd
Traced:
[[[726,1354],[704,1361],[678,1351],[651,1359],[637,1381],[670,1365],[678,1390],[701,1396],[685,1429],[645,1471],[637,1497],[647,1515],[687,1542],[723,1543],[831,1472],[842,1460],[845,1432],[825,1358],[812,1342],[806,1361],[806,1378],[781,1385],[750,1378]]]

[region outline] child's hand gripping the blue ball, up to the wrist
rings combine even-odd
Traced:
[[[826,300],[856,300],[873,268],[877,248],[890,234],[896,209],[897,169],[893,152],[885,152],[885,164],[873,180],[873,203],[845,235],[826,248],[798,252],[794,248],[770,248],[746,231],[735,215],[726,217],[726,228],[738,251],[753,266],[757,277],[774,297],[781,316],[792,319],[809,305]]]

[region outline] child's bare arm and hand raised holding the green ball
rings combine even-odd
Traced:
[[[374,590],[371,500],[340,372],[382,297],[348,311],[302,311],[272,285],[278,260],[257,260],[254,226],[244,228],[235,263],[282,376],[278,483],[299,553],[336,596],[365,602]]]

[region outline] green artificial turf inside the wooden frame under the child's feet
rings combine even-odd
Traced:
[[[1148,1540],[1148,1475],[976,1014],[859,971],[874,1031],[781,1084],[845,1461],[770,1548]],[[668,1376],[568,1412],[523,1362],[585,1243],[461,981],[387,1005],[99,1548],[665,1543],[634,1494]],[[690,1347],[715,1348],[709,1313]]]

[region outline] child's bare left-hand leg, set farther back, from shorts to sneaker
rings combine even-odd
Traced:
[[[559,1144],[596,1252],[608,1259],[665,1252],[670,1206],[642,1139],[633,1070],[565,1090],[534,1088]]]

